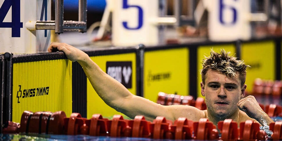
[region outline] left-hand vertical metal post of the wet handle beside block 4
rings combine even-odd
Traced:
[[[64,0],[55,1],[55,33],[63,33],[64,29]]]

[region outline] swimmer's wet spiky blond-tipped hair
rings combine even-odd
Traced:
[[[246,65],[244,60],[237,60],[236,57],[230,56],[229,54],[230,52],[224,49],[221,49],[219,53],[211,49],[210,56],[202,60],[203,69],[201,69],[201,76],[204,84],[208,70],[215,69],[230,78],[236,76],[236,72],[238,72],[241,86],[244,85],[246,81],[246,69],[250,66]]]

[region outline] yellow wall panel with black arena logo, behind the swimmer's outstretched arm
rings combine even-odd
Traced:
[[[91,56],[90,58],[104,72],[121,82],[132,94],[136,95],[136,53]],[[125,116],[108,106],[87,79],[87,118],[90,119],[93,114],[101,114],[106,118],[111,118],[116,114]]]

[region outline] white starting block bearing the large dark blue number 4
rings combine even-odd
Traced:
[[[46,51],[50,31],[28,31],[26,22],[51,19],[51,0],[0,0],[0,52]]]

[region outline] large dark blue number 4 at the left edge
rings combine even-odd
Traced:
[[[10,7],[12,7],[12,22],[3,22]],[[0,28],[12,28],[12,37],[20,37],[20,29],[23,27],[20,22],[20,0],[5,0],[0,8]]]

